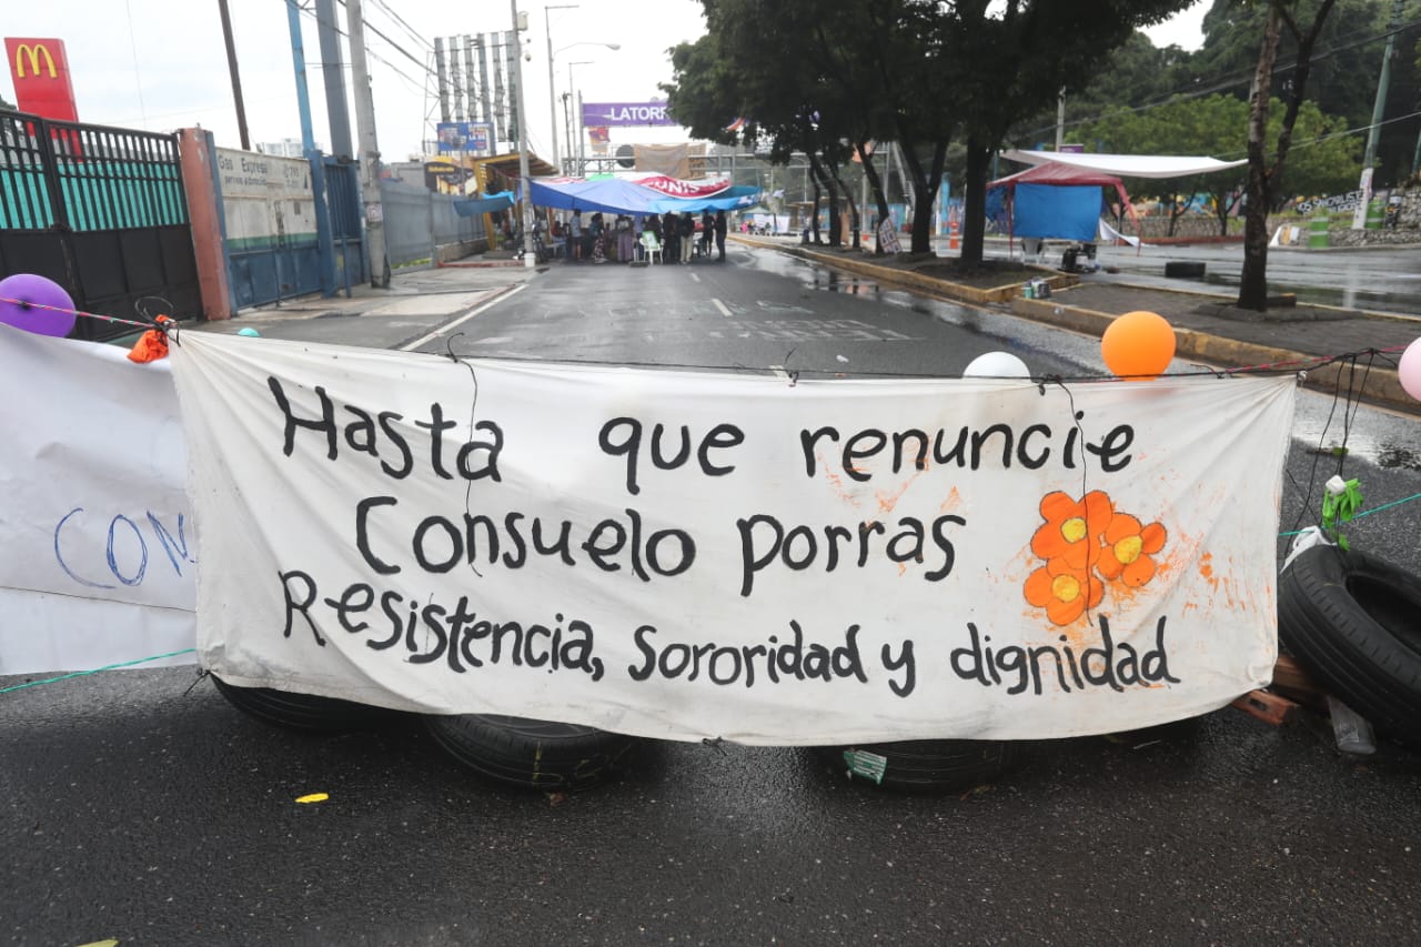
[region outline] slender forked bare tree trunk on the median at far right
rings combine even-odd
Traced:
[[[1253,88],[1249,94],[1248,125],[1248,203],[1243,216],[1243,273],[1239,279],[1238,304],[1241,309],[1263,311],[1268,309],[1268,210],[1273,192],[1282,181],[1287,151],[1293,141],[1293,127],[1303,105],[1307,90],[1307,74],[1312,68],[1313,47],[1322,33],[1336,0],[1265,0],[1268,16],[1263,26],[1263,43],[1259,50],[1258,68],[1253,74]],[[1299,26],[1299,7],[1312,13],[1312,21],[1304,18],[1306,28]],[[1269,87],[1273,64],[1277,60],[1277,43],[1286,26],[1297,43],[1297,63],[1293,67],[1292,85],[1283,105],[1283,118],[1277,125],[1277,137],[1272,154],[1269,141]]]

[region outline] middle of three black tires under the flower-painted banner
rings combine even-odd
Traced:
[[[595,727],[497,714],[426,715],[425,724],[455,761],[523,789],[587,789],[611,774],[638,742]]]

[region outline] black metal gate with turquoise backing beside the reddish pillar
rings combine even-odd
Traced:
[[[36,273],[75,309],[202,313],[178,137],[0,114],[0,277]],[[80,319],[75,338],[132,328]]]

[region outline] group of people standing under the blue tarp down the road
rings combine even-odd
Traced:
[[[553,236],[566,237],[567,259],[574,262],[631,263],[645,252],[642,239],[645,233],[651,233],[655,243],[662,247],[661,256],[665,263],[689,263],[698,243],[701,256],[709,257],[712,242],[719,253],[718,262],[722,262],[726,228],[725,210],[716,210],[713,215],[705,210],[699,222],[689,210],[681,215],[652,213],[645,218],[618,213],[611,225],[600,210],[587,220],[583,220],[581,210],[573,210],[566,225],[554,225]]]

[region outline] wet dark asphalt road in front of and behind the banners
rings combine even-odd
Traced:
[[[830,289],[821,270],[740,250],[729,264],[554,269],[448,344],[946,375],[1005,348],[1037,371],[1100,371],[1094,340]],[[1347,417],[1344,432],[1326,398],[1300,395],[1285,529],[1309,522],[1310,483],[1317,509],[1344,434],[1368,508],[1421,493],[1415,419]],[[1421,570],[1421,502],[1347,533]],[[1343,756],[1313,714],[1273,728],[1225,708],[1027,744],[1013,772],[951,796],[850,783],[803,749],[645,744],[611,783],[560,796],[479,782],[418,719],[308,737],[239,714],[206,681],[188,692],[193,678],[0,694],[0,943],[1421,941],[1421,755]],[[294,802],[311,792],[330,799]]]

